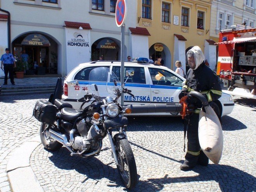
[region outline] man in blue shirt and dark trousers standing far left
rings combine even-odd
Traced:
[[[1,69],[4,70],[4,83],[3,85],[7,85],[8,73],[9,78],[12,85],[15,85],[14,78],[13,78],[13,68],[16,67],[15,59],[12,54],[9,53],[9,48],[5,49],[5,54],[1,57]]]

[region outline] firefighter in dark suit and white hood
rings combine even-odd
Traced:
[[[187,72],[185,85],[179,94],[179,99],[191,91],[201,92],[206,99],[211,102],[221,97],[221,86],[217,75],[204,64],[204,54],[200,47],[194,46],[187,52],[187,59],[190,69]],[[199,112],[202,104],[198,99],[188,95],[188,106],[194,106],[194,112],[190,114],[187,129],[187,153],[185,161],[180,166],[180,170],[187,171],[197,164],[207,166],[209,159],[200,150],[198,140]]]

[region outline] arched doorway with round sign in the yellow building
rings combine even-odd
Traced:
[[[155,44],[163,45],[163,47],[164,47],[163,51],[161,51],[161,52],[155,51],[155,49],[154,49]],[[162,57],[162,59],[164,60],[164,66],[171,68],[171,52],[170,52],[169,48],[166,45],[164,45],[163,43],[154,43],[149,48],[149,56],[152,57],[153,61],[156,61],[156,59],[158,59],[159,57]]]

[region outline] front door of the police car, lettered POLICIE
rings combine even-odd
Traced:
[[[151,103],[178,103],[183,80],[165,69],[154,67],[148,67],[148,69]]]

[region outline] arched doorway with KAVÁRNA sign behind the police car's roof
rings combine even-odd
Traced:
[[[105,61],[119,61],[120,48],[118,43],[111,38],[101,38],[92,44],[92,61],[103,56]]]

